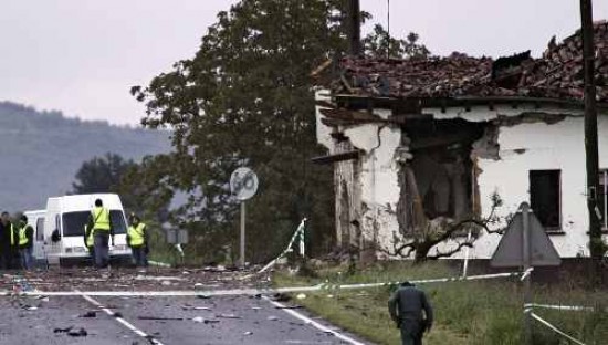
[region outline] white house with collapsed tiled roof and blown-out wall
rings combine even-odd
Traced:
[[[608,230],[606,22],[595,40]],[[429,255],[458,258],[472,233],[471,255],[486,259],[500,234],[483,227],[504,228],[527,201],[562,257],[588,254],[583,69],[579,33],[538,59],[343,59],[338,77],[319,77],[317,139],[328,155],[314,159],[334,165],[338,244],[402,257],[424,238],[439,240]]]

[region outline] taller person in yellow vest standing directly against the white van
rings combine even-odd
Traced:
[[[95,207],[88,216],[88,229],[93,229],[93,252],[95,266],[107,268],[109,264],[109,245],[114,244],[114,230],[109,219],[109,210],[104,207],[102,199],[95,200]]]

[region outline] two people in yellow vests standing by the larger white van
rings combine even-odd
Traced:
[[[127,245],[132,250],[133,261],[136,266],[147,266],[149,237],[146,224],[134,213],[129,217],[129,223]],[[114,229],[109,210],[104,207],[101,199],[95,200],[95,207],[88,216],[88,222],[84,228],[84,242],[95,268],[107,268],[109,264],[109,245],[114,244]]]

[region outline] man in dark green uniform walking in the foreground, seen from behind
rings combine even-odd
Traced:
[[[421,345],[424,332],[431,331],[431,304],[424,292],[410,282],[403,282],[392,294],[388,301],[388,312],[401,330],[402,345]]]

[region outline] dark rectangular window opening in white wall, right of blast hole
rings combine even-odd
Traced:
[[[545,230],[562,230],[560,186],[560,170],[530,170],[530,205]]]

